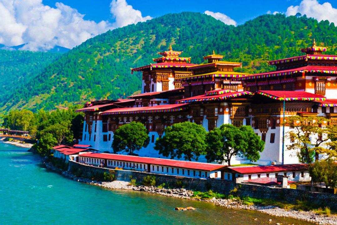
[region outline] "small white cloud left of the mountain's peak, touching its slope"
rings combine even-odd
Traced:
[[[125,0],[113,0],[110,7],[110,12],[116,18],[115,27],[124,27],[152,19],[150,16],[142,17],[142,12],[128,5]]]

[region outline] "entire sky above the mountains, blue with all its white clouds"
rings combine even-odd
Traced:
[[[266,13],[296,13],[337,25],[337,0],[0,0],[0,44],[45,51],[167,13],[206,13],[238,26]],[[5,47],[8,49],[8,47]]]

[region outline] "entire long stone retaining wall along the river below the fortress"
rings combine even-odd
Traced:
[[[238,184],[235,185],[233,181],[219,180],[219,179],[199,179],[182,176],[172,176],[155,174],[148,172],[132,171],[132,170],[114,170],[108,168],[99,168],[80,164],[74,161],[69,161],[69,169],[81,169],[83,176],[91,178],[94,173],[110,172],[115,174],[115,180],[130,181],[136,179],[136,183],[141,183],[145,176],[151,175],[156,177],[156,184],[165,183],[166,187],[177,187],[178,182],[183,184],[183,187],[190,190],[208,191],[213,190],[221,194],[229,194],[231,190],[237,187],[237,193],[234,195],[250,196],[253,198],[269,198],[278,201],[287,201],[289,203],[296,203],[297,200],[308,201],[316,203],[321,206],[330,206],[337,209],[337,195],[329,193],[308,192],[304,190],[289,189],[289,188],[273,188],[252,184]]]

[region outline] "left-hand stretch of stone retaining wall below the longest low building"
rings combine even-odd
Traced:
[[[229,193],[234,189],[235,184],[232,181],[220,180],[220,179],[200,179],[200,178],[189,178],[183,176],[172,176],[155,174],[148,172],[132,171],[132,170],[114,170],[108,168],[99,168],[95,166],[89,166],[80,164],[74,161],[69,161],[69,169],[81,169],[83,176],[91,178],[93,173],[104,173],[113,172],[115,174],[115,180],[130,181],[130,176],[132,179],[136,179],[136,183],[141,183],[145,176],[151,175],[156,177],[156,183],[158,185],[165,183],[166,187],[177,187],[177,184],[181,182],[184,188],[198,191],[208,191],[213,190],[218,193]]]

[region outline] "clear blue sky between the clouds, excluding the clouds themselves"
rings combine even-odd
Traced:
[[[101,20],[109,20],[114,22],[110,13],[111,0],[43,0],[44,4],[55,7],[56,2],[62,2],[72,8],[78,9],[85,14],[85,19],[99,22]],[[266,14],[267,11],[285,12],[291,5],[299,5],[299,0],[238,0],[238,1],[216,1],[216,0],[195,0],[195,1],[153,1],[153,0],[127,0],[129,5],[134,9],[140,10],[143,16],[159,17],[167,13],[192,11],[205,12],[206,10],[213,12],[221,12],[238,24],[242,24],[247,20],[254,19],[257,16]],[[319,1],[324,3],[325,1]],[[332,6],[337,8],[337,1],[329,1]]]

